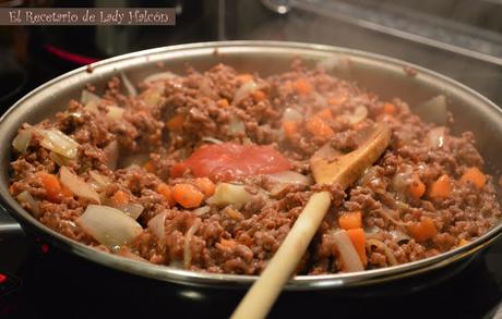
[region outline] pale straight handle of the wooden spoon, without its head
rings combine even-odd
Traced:
[[[231,315],[234,319],[265,318],[291,277],[331,204],[327,192],[313,194],[265,270]]]

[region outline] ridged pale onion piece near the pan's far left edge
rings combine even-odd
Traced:
[[[50,128],[44,130],[34,127],[37,134],[41,135],[40,145],[53,152],[62,155],[67,158],[74,159],[79,150],[79,143],[69,137],[59,130]]]

